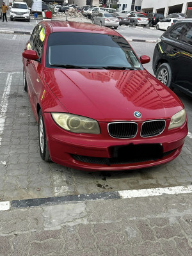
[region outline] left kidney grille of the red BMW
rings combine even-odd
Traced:
[[[138,124],[134,122],[114,122],[108,125],[109,135],[113,138],[134,138]]]

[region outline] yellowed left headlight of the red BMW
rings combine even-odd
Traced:
[[[99,124],[92,118],[68,113],[51,113],[51,115],[54,122],[66,131],[100,134]]]

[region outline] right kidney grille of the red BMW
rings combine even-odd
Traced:
[[[153,120],[144,122],[141,127],[141,137],[157,136],[164,131],[164,127],[164,120]]]

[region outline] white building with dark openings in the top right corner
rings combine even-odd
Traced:
[[[170,13],[186,13],[190,17],[192,1],[189,0],[142,0],[142,12],[163,13],[164,17]]]

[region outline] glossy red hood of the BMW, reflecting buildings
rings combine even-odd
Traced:
[[[100,122],[170,118],[183,107],[179,98],[146,70],[45,68],[44,79],[69,113]]]

